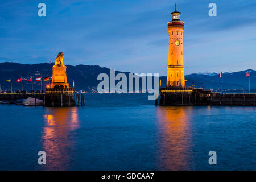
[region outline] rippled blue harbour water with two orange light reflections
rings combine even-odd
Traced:
[[[154,104],[146,94],[85,94],[82,107],[2,104],[0,169],[256,169],[255,107]]]

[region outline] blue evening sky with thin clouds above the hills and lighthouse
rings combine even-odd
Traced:
[[[38,4],[46,4],[46,17]],[[217,4],[217,17],[208,5]],[[64,64],[167,74],[174,4],[181,11],[185,73],[256,69],[256,1],[0,2],[0,62]]]

